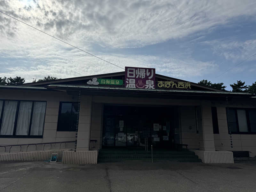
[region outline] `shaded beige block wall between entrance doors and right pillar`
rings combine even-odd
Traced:
[[[188,148],[199,148],[199,134],[196,132],[195,107],[180,107],[180,138],[182,144],[188,144]]]

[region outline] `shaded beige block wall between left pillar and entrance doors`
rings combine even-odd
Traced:
[[[101,148],[102,143],[102,118],[103,104],[92,103],[92,125],[90,140],[97,140],[97,143],[90,143],[90,148]]]

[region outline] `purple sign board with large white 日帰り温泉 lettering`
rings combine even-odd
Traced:
[[[125,87],[156,89],[156,69],[125,67]]]

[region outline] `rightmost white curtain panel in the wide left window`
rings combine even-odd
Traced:
[[[43,135],[46,102],[34,102],[30,135]]]

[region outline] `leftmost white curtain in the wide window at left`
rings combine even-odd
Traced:
[[[12,135],[18,101],[5,101],[0,135]]]

